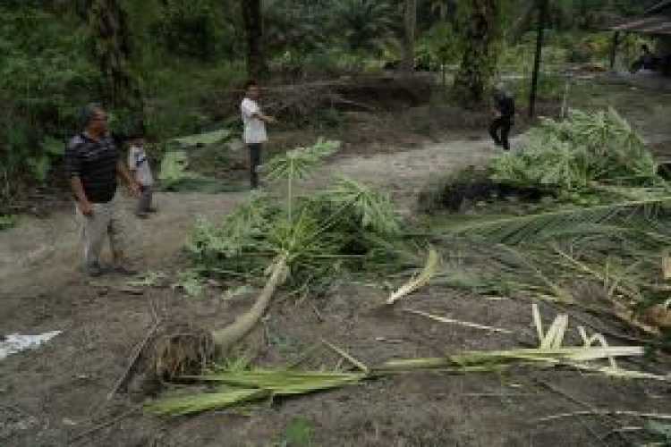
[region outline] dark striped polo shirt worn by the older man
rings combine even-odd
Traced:
[[[115,197],[119,155],[111,136],[96,141],[81,133],[65,149],[65,173],[80,178],[89,202],[106,203]]]

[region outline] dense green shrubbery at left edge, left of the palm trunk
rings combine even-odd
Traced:
[[[44,183],[78,128],[98,71],[81,23],[30,5],[0,6],[0,173],[9,201],[26,182]]]

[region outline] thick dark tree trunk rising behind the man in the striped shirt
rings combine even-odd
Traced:
[[[140,88],[129,67],[131,39],[126,13],[119,1],[94,0],[89,9],[89,28],[94,36],[105,104],[141,114]]]

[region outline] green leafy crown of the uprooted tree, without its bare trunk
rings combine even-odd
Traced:
[[[343,268],[358,271],[388,263],[386,244],[401,235],[388,196],[346,178],[309,196],[295,194],[296,181],[338,147],[320,139],[265,165],[268,181],[285,182],[285,200],[258,192],[221,223],[199,219],[188,249],[200,271],[258,278],[272,259],[286,254],[291,283],[302,285],[319,283]]]

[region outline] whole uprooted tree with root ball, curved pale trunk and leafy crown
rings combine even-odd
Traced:
[[[252,308],[231,325],[214,331],[168,328],[162,333],[152,355],[155,375],[195,374],[216,355],[225,357],[251,332],[287,280],[307,288],[338,266],[388,260],[378,240],[395,240],[400,225],[386,195],[347,179],[310,198],[295,194],[295,182],[306,178],[338,146],[319,140],[310,148],[277,156],[265,166],[268,181],[286,183],[285,207],[258,194],[227,215],[221,225],[199,221],[188,249],[202,271],[268,280]]]

